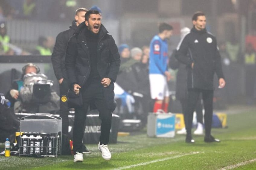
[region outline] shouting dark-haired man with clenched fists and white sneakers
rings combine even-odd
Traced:
[[[117,45],[101,24],[101,14],[89,10],[69,40],[66,50],[66,70],[71,88],[81,93],[83,106],[75,108],[73,134],[74,162],[82,162],[82,139],[89,104],[95,104],[101,119],[98,149],[105,160],[110,160],[108,142],[114,103],[114,82],[120,67]]]

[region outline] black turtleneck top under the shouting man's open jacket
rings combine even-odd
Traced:
[[[97,45],[99,42],[99,34],[94,34],[87,28],[85,29],[85,38],[90,51],[91,60],[91,73],[89,76],[90,80],[100,80],[100,75],[97,70]]]

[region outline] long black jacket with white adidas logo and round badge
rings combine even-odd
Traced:
[[[214,73],[224,78],[216,38],[206,29],[198,31],[193,27],[177,50],[177,59],[187,65],[188,88],[213,90]]]

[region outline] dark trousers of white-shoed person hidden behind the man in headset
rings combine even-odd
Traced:
[[[187,108],[188,99],[187,98],[180,99],[180,103],[181,103],[181,110],[184,115],[184,122],[186,123],[187,115],[184,113]],[[195,111],[197,113],[197,123],[203,124],[203,105],[201,104],[201,97],[197,101]]]

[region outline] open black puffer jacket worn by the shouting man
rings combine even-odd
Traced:
[[[69,40],[66,50],[66,71],[71,85],[81,87],[88,80],[91,71],[89,49],[85,39],[85,22],[81,23],[74,36]],[[111,83],[104,88],[104,97],[108,107],[113,109],[114,82],[120,67],[120,55],[117,45],[107,29],[101,24],[97,46],[97,70],[100,78],[110,78]]]

